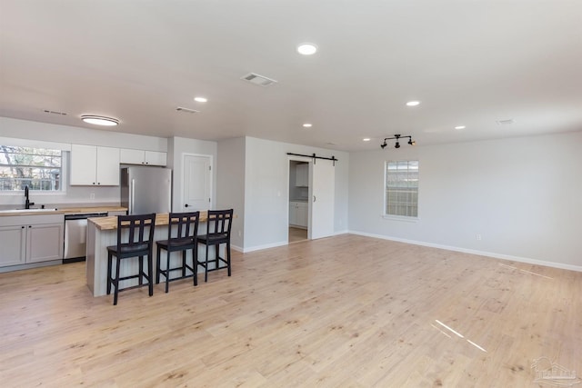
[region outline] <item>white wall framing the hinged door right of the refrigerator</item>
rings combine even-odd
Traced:
[[[212,203],[216,204],[216,158],[217,143],[206,140],[188,139],[186,137],[172,137],[168,139],[168,160],[171,159],[173,167],[173,184],[172,184],[172,211],[182,211],[182,198],[184,191],[184,154],[203,154],[211,155],[213,159],[212,169]],[[170,164],[170,162],[168,162]]]

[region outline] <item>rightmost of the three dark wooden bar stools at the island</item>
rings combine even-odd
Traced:
[[[224,268],[228,269],[228,276],[230,276],[230,229],[233,221],[233,209],[228,210],[209,210],[208,211],[208,221],[206,234],[199,235],[197,238],[198,244],[206,245],[206,260],[204,262],[198,261],[198,265],[201,265],[205,269],[204,281],[208,281],[208,273],[211,271],[221,270]],[[226,244],[225,254],[226,259],[219,256],[220,244]],[[210,246],[215,247],[215,258],[210,260],[210,263],[214,263],[214,268],[208,268],[208,251]],[[226,264],[226,266],[221,267],[220,264]]]

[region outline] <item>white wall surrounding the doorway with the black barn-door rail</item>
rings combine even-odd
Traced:
[[[336,156],[339,161],[336,162],[335,231],[341,233],[346,230],[349,165],[347,153],[246,137],[244,226],[246,252],[286,244],[289,212],[287,153]]]

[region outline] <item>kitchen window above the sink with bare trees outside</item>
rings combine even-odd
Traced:
[[[0,145],[0,191],[60,191],[62,166],[60,150]]]

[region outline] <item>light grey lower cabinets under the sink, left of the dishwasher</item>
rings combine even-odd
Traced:
[[[0,266],[63,259],[63,214],[0,217]]]

